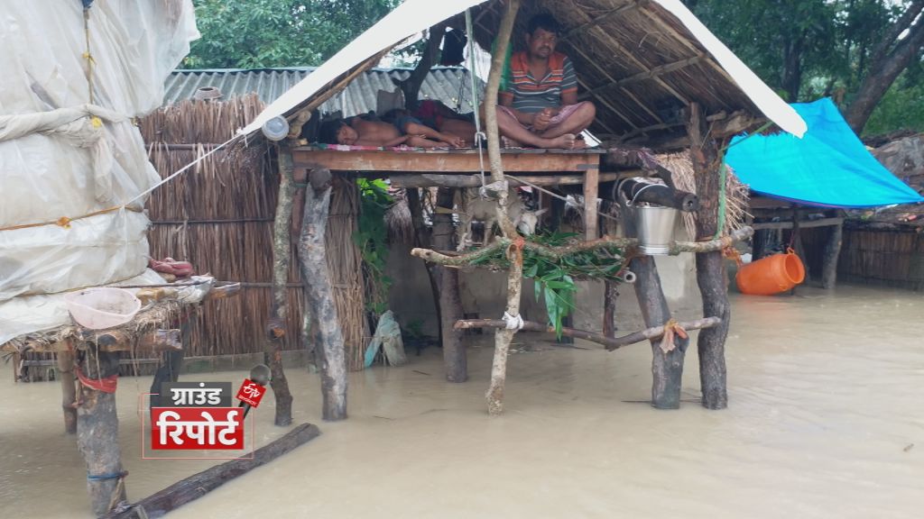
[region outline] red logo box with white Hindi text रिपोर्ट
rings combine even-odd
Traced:
[[[244,412],[237,407],[153,407],[152,450],[240,450]]]

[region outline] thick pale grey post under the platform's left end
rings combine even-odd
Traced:
[[[321,361],[322,416],[325,420],[342,420],[346,418],[346,352],[324,246],[332,180],[328,170],[310,172],[310,186],[305,189],[305,217],[298,239],[298,261],[311,314],[316,316],[316,336],[320,339],[315,352]]]

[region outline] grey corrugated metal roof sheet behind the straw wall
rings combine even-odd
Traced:
[[[271,103],[290,89],[314,67],[259,68],[253,70],[229,68],[211,70],[175,70],[164,82],[164,106],[192,99],[202,87],[215,87],[222,99],[257,93],[263,103]],[[375,110],[378,91],[395,91],[392,79],[406,79],[408,68],[372,68],[353,80],[334,98],[321,106],[322,112],[341,110],[343,115],[357,115]],[[468,70],[462,67],[434,67],[420,88],[421,99],[442,101],[459,113],[472,112]],[[478,81],[479,96],[484,84]]]

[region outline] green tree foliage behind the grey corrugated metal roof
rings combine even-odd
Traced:
[[[194,0],[202,34],[186,68],[317,66],[399,0]]]

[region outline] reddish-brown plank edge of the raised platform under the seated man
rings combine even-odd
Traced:
[[[481,171],[478,153],[417,153],[409,151],[292,151],[295,166],[332,171],[456,172]],[[599,162],[599,155],[587,153],[507,153],[508,173],[581,171],[581,166]],[[488,161],[485,157],[485,168]]]

